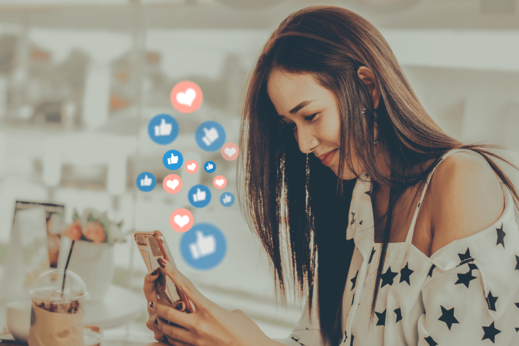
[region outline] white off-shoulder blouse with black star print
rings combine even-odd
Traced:
[[[457,151],[474,153],[455,149],[443,158]],[[343,296],[341,346],[519,345],[519,227],[512,195],[501,182],[505,207],[499,219],[427,257],[411,240],[433,173],[405,243],[388,244],[371,321],[382,244],[373,237],[371,178],[363,173],[357,179],[346,229],[346,239],[353,238],[355,247]],[[274,340],[289,346],[322,345],[319,315],[313,308],[318,306],[317,296],[316,276],[312,315],[307,302],[290,337]]]

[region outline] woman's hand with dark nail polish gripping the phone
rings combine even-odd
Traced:
[[[193,302],[195,312],[184,313],[163,305],[157,301],[156,293],[153,296],[150,292],[149,298],[153,300],[148,301],[153,301],[153,304],[151,307],[148,305],[148,312],[155,316],[153,323],[156,328],[150,329],[156,332],[156,340],[159,340],[157,336],[166,336],[170,344],[182,346],[278,345],[241,310],[225,310],[204,297],[173,263],[159,258],[159,265],[161,272],[168,275],[177,289]],[[146,280],[154,281],[155,276],[148,278]]]

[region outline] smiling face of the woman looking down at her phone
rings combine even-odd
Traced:
[[[335,95],[309,73],[292,74],[279,69],[270,73],[267,93],[278,115],[294,128],[302,153],[313,153],[338,175],[340,112]],[[354,170],[361,174],[364,167],[353,152],[351,160]],[[345,162],[341,178],[356,177]]]

